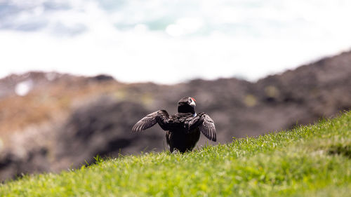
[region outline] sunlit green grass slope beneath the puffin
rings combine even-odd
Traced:
[[[218,131],[220,132],[220,131]],[[26,176],[0,196],[351,196],[351,112],[187,154],[107,159]]]

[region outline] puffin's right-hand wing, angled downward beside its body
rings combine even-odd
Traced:
[[[201,133],[204,134],[208,140],[216,142],[216,127],[212,118],[203,112],[197,116],[199,116],[199,122],[197,125],[199,126]]]

